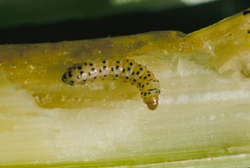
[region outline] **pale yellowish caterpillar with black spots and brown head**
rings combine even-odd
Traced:
[[[74,64],[62,76],[62,81],[72,86],[93,82],[97,79],[130,82],[139,88],[143,102],[147,104],[148,109],[155,110],[158,106],[159,80],[148,71],[146,66],[132,59]]]

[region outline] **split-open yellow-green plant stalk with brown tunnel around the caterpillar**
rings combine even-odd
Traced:
[[[0,46],[0,166],[250,165],[250,14],[177,31]],[[160,81],[151,111],[119,81],[69,86],[86,60],[131,58]]]

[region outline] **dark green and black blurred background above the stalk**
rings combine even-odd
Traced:
[[[250,0],[10,0],[0,3],[0,44],[57,42],[159,30],[190,33],[250,7]],[[205,1],[204,1],[205,2]]]

